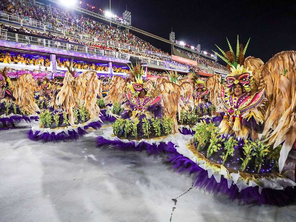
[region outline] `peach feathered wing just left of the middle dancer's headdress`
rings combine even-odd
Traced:
[[[126,100],[123,96],[125,89],[126,81],[121,76],[113,75],[109,93],[104,97],[105,104],[114,104],[115,102],[121,104]]]

